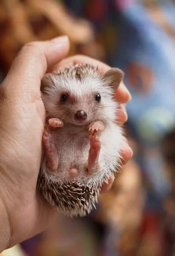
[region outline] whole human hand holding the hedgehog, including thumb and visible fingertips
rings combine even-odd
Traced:
[[[110,68],[82,55],[62,60],[68,50],[67,37],[25,45],[0,86],[0,251],[41,232],[56,216],[56,211],[36,192],[45,125],[42,77],[53,67],[64,68],[65,64],[77,62]],[[130,99],[124,84],[119,86],[116,99],[121,104]],[[121,111],[120,124],[126,118]],[[123,148],[122,161],[126,163],[132,151],[127,141]],[[109,186],[104,184],[102,190],[107,191]]]

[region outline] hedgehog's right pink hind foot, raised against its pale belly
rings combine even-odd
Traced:
[[[88,157],[87,170],[89,173],[96,172],[99,169],[99,153],[101,149],[101,142],[97,134],[90,136],[90,151]]]

